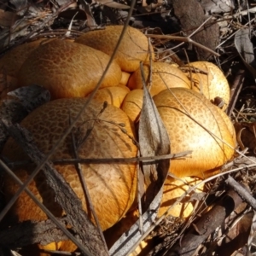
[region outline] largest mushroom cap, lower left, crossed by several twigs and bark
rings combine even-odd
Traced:
[[[47,154],[67,130],[70,119],[75,118],[86,101],[84,98],[73,98],[49,102],[29,114],[21,125],[32,133],[34,143]],[[79,158],[82,159],[130,158],[137,155],[137,147],[131,139],[134,137],[134,129],[130,119],[121,109],[111,105],[102,111],[102,103],[91,102],[75,125],[73,135],[79,147]],[[72,148],[72,136],[69,134],[51,160],[73,159]],[[12,138],[3,148],[3,155],[11,161],[28,159]],[[65,178],[82,201],[85,212],[88,212],[75,166],[55,164],[55,169]],[[102,230],[106,230],[125,215],[135,199],[136,164],[81,164],[81,169]],[[23,182],[31,172],[32,168],[29,167],[15,170],[15,174]],[[8,200],[19,188],[14,180],[6,177],[4,194]],[[28,188],[56,217],[64,214],[55,201],[55,193],[46,183],[43,172],[39,172]],[[92,219],[91,214],[88,215]],[[24,192],[15,202],[9,218],[18,221],[44,220],[47,216]]]

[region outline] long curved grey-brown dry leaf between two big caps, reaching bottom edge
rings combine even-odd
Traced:
[[[142,156],[170,154],[169,137],[160,119],[148,89],[144,86],[143,108],[139,123],[139,143]],[[143,233],[147,232],[157,216],[162,198],[163,184],[168,174],[170,160],[156,160],[152,164],[143,164],[146,184],[146,200],[143,201]],[[149,206],[149,207],[148,207]],[[139,229],[140,220],[131,226],[110,248],[110,255],[125,256],[131,248],[142,240],[143,234]]]

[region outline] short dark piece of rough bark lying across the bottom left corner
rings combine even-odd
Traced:
[[[67,218],[58,218],[59,222],[65,228]],[[32,234],[32,236],[29,236]],[[40,222],[24,221],[16,224],[7,230],[0,231],[0,247],[17,248],[24,247],[33,243],[42,245],[49,244],[52,241],[64,241],[67,236],[50,220]]]

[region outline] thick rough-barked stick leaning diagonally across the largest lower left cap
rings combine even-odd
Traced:
[[[40,163],[44,160],[44,154],[32,144],[32,137],[24,128],[21,128],[20,125],[8,124],[4,121],[3,125],[6,125],[10,136],[15,138],[33,161]],[[108,255],[98,230],[90,222],[82,208],[81,201],[75,195],[73,189],[70,188],[61,174],[55,171],[54,166],[50,162],[44,165],[42,171],[49,186],[55,190],[55,200],[66,212],[68,224],[71,224],[74,233],[79,236],[79,239],[93,255]],[[88,255],[87,250],[83,253]]]

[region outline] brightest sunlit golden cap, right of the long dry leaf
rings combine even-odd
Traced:
[[[219,114],[200,93],[172,88],[154,96],[154,103],[172,143],[172,154],[192,150],[191,156],[172,160],[170,172],[177,177],[207,177],[219,172],[235,152],[236,140],[229,119]]]

